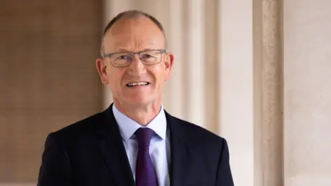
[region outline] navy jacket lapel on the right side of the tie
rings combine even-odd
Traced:
[[[170,185],[182,186],[185,185],[185,177],[187,177],[186,174],[190,167],[189,143],[185,138],[185,131],[181,127],[182,123],[167,112],[165,112],[165,116],[170,129]]]

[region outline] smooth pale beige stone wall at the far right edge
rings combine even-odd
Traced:
[[[331,185],[331,1],[284,1],[285,185]]]

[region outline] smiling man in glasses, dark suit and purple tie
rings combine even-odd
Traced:
[[[127,11],[103,32],[97,70],[114,103],[49,134],[39,172],[46,185],[234,185],[225,139],[161,105],[174,56],[161,23]]]

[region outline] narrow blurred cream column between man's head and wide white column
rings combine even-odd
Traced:
[[[185,1],[185,112],[188,119],[203,126],[204,118],[204,2]]]

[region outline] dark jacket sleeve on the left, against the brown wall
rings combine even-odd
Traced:
[[[46,138],[37,186],[71,186],[71,168],[66,149],[51,133]]]

